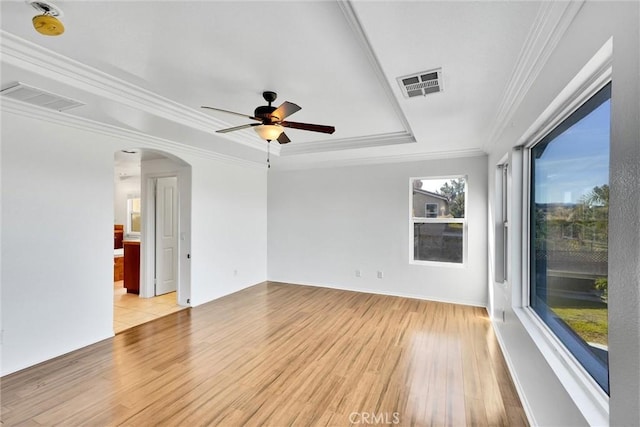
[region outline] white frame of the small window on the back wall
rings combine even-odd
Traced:
[[[416,180],[454,180],[464,179],[464,218],[429,218],[413,215],[413,183]],[[426,207],[425,207],[426,208]],[[426,215],[426,211],[424,212]],[[469,177],[468,175],[422,176],[409,178],[409,264],[450,268],[466,268],[468,258],[468,216],[469,216]],[[462,262],[429,261],[414,259],[415,224],[462,224]]]

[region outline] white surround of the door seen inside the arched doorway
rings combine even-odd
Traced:
[[[191,305],[191,166],[183,166],[170,159],[153,160],[150,167],[142,162],[141,202],[142,232],[140,239],[140,297],[155,296],[155,183],[158,178],[177,178],[178,203],[178,278],[177,304]]]

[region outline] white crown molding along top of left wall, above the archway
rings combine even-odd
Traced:
[[[262,162],[254,162],[217,153],[214,151],[204,150],[202,148],[193,147],[168,139],[158,138],[142,132],[123,129],[118,126],[85,119],[83,117],[73,116],[71,114],[60,111],[53,111],[48,108],[39,107],[33,104],[28,104],[3,96],[0,96],[0,109],[6,113],[16,114],[19,116],[43,120],[46,122],[71,127],[86,132],[105,135],[120,141],[126,141],[131,144],[135,144],[137,147],[153,148],[160,151],[165,151],[176,156],[189,155],[250,168],[262,169],[265,167],[264,163]]]

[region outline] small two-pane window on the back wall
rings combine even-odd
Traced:
[[[464,262],[466,191],[464,177],[411,179],[411,262]]]

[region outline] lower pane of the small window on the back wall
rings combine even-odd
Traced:
[[[462,263],[461,223],[417,223],[413,225],[413,259]]]

